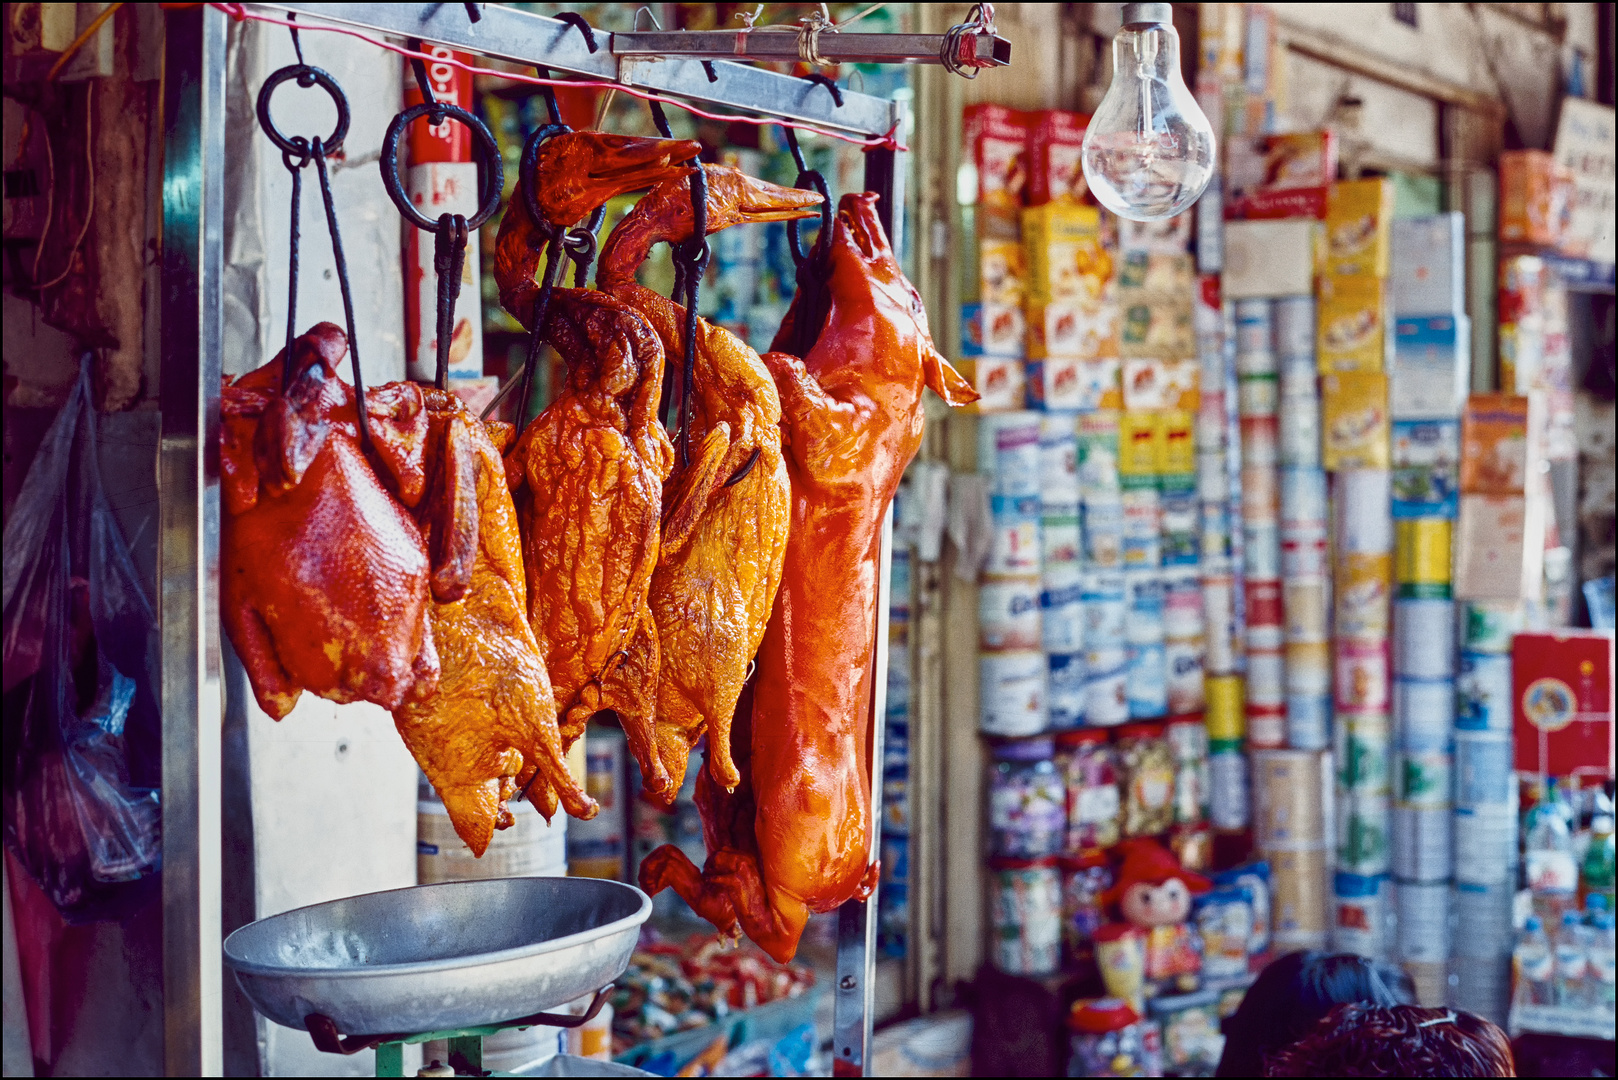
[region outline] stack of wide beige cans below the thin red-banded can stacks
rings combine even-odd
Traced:
[[[1270,863],[1277,952],[1327,946],[1328,767],[1314,750],[1252,753],[1252,842]]]

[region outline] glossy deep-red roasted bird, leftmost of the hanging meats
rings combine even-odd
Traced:
[[[346,351],[343,330],[320,322],[293,342],[290,385],[277,355],[222,392],[220,620],[277,721],[304,690],[387,709],[430,690],[429,575],[434,594],[466,589],[429,560],[406,512],[426,487],[421,390],[366,395],[367,457],[337,377]]]

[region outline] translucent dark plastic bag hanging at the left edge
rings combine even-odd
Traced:
[[[155,617],[102,489],[89,366],[23,481],[3,572],[5,839],[71,921],[146,904],[162,865]]]

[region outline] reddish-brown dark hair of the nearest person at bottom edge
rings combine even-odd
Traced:
[[[1514,1077],[1506,1033],[1459,1009],[1338,1006],[1267,1077]]]

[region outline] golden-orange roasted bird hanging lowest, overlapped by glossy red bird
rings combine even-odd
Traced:
[[[500,450],[460,398],[421,393],[427,492],[416,518],[429,551],[443,552],[435,563],[464,565],[469,586],[463,597],[429,607],[443,670],[437,688],[393,709],[393,724],[455,831],[482,855],[493,831],[511,824],[506,800],[536,772],[574,818],[594,818],[597,805],[568,774],[550,677],[527,625],[516,507]],[[503,440],[510,426],[495,434]]]

